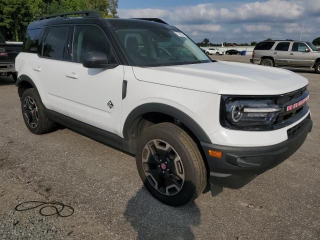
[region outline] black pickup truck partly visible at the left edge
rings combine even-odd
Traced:
[[[21,47],[20,42],[5,42],[0,34],[0,75],[12,75],[13,80],[16,81],[14,60],[21,51]]]

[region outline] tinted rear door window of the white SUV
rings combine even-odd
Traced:
[[[43,56],[62,60],[68,26],[52,26],[43,43]]]

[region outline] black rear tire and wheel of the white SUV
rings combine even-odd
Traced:
[[[28,99],[28,101],[26,100],[26,98]],[[27,102],[30,102],[30,99],[34,102],[34,104],[32,105],[35,106],[32,107],[32,109],[36,108],[36,110],[34,109],[32,113],[30,113],[32,110],[30,110],[29,112],[25,111],[26,108],[29,108],[27,107]],[[40,96],[34,88],[28,88],[23,92],[21,97],[22,117],[26,127],[34,134],[47,133],[52,129],[53,121],[47,118],[44,109],[45,108],[42,104]],[[29,119],[35,118],[37,118],[36,124],[34,122],[33,124],[30,124],[31,120]]]

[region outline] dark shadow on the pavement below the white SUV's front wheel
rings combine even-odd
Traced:
[[[172,207],[161,203],[143,186],[128,201],[124,217],[142,239],[194,239],[191,226],[200,224],[200,210],[194,202]]]

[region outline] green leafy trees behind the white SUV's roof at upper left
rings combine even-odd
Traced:
[[[0,0],[0,33],[7,41],[22,41],[26,27],[38,17],[79,10],[99,10],[117,17],[118,0]]]

